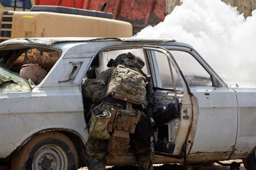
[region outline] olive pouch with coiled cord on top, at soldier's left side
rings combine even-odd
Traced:
[[[110,122],[111,114],[104,108],[96,107],[92,109],[90,136],[96,139],[109,140],[110,134],[107,125]]]

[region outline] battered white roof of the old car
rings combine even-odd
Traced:
[[[58,52],[59,55],[63,50],[70,50],[71,47],[76,45],[97,43],[98,45],[92,45],[94,50],[101,47],[113,46],[113,45],[149,45],[149,46],[161,46],[172,45],[193,48],[190,45],[182,42],[176,42],[176,40],[160,40],[160,39],[142,39],[142,38],[78,38],[78,37],[60,37],[60,38],[14,38],[6,40],[0,43],[0,66],[9,68],[13,62],[26,50],[36,48],[42,52]],[[87,49],[92,50],[91,48]],[[73,50],[70,50],[73,52]],[[95,52],[95,51],[92,51]],[[12,60],[11,60],[12,59]]]

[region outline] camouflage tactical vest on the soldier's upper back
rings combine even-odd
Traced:
[[[142,104],[146,96],[146,78],[137,70],[118,64],[107,85],[106,96],[109,95],[130,103]]]

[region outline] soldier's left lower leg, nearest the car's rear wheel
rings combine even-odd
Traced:
[[[108,143],[109,140],[99,140],[89,137],[85,149],[85,159],[88,169],[105,170]]]

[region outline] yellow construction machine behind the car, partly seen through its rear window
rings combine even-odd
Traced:
[[[132,24],[113,19],[112,13],[64,6],[35,6],[34,0],[0,0],[1,38],[99,37],[127,38]],[[18,72],[26,63],[50,68],[58,60],[54,54],[28,50],[15,62]]]

